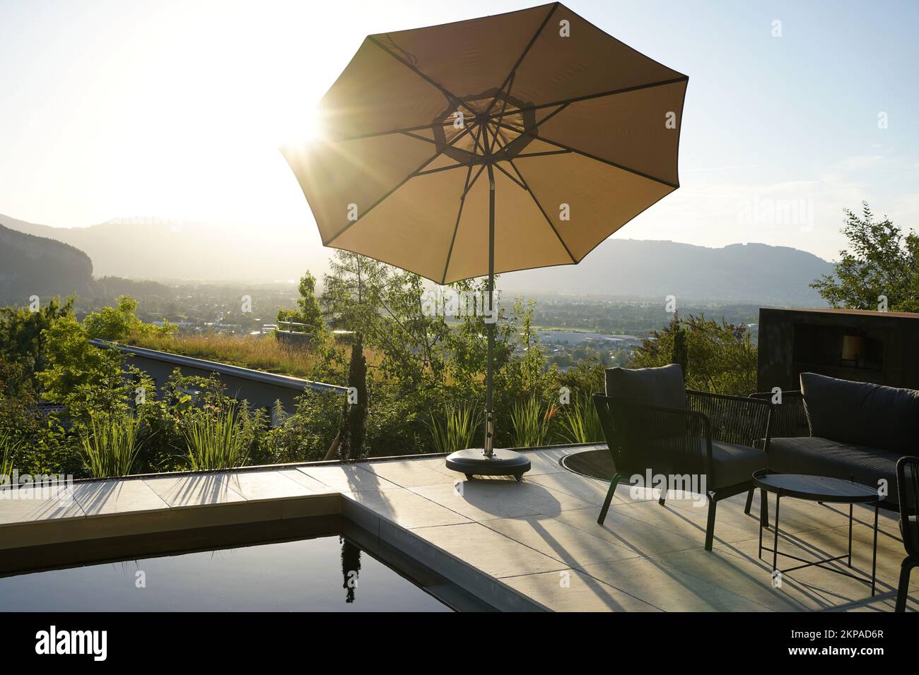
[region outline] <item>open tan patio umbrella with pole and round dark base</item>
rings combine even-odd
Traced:
[[[494,275],[577,264],[678,187],[687,79],[531,7],[369,36],[322,99],[322,137],[282,148],[324,245],[437,284],[488,276],[484,448],[448,467],[528,470],[493,446]]]

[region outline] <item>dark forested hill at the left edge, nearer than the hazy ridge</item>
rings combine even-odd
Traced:
[[[0,304],[28,305],[33,295],[44,303],[85,292],[92,281],[93,262],[79,249],[0,224]]]

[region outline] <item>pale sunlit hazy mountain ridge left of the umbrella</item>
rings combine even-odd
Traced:
[[[119,219],[54,228],[0,215],[13,230],[76,246],[93,260],[96,276],[131,279],[273,281],[322,276],[331,252],[317,246],[307,223],[296,231],[229,229],[166,219]]]

